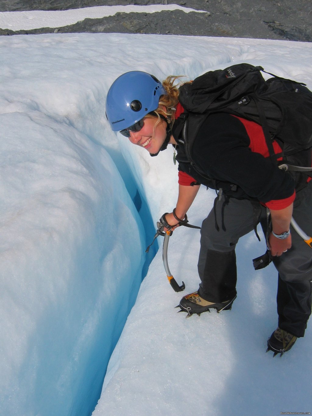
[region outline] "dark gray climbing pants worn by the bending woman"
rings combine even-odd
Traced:
[[[259,222],[266,234],[266,208],[260,208]],[[312,235],[312,185],[297,193],[293,217]],[[217,222],[219,230],[216,229]],[[210,302],[223,302],[236,295],[235,246],[253,230],[254,210],[250,201],[222,197],[203,221],[198,273],[198,293]],[[281,329],[303,337],[311,314],[312,248],[291,228],[292,248],[275,257],[278,271],[277,313]]]

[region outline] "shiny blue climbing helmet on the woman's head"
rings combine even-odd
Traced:
[[[113,131],[121,131],[143,119],[158,107],[166,94],[156,77],[147,72],[130,71],[111,85],[106,97],[106,117]]]

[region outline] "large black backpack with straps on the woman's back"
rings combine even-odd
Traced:
[[[179,102],[186,110],[178,118],[186,154],[193,163],[191,149],[208,113],[227,112],[262,126],[272,161],[282,157],[285,170],[295,173],[297,184],[311,176],[312,92],[305,84],[277,77],[267,81],[262,67],[236,64],[206,72],[180,87]],[[282,154],[275,154],[272,141],[278,141]],[[295,166],[298,165],[298,166]],[[306,167],[299,167],[306,166]],[[297,189],[298,190],[298,189]]]

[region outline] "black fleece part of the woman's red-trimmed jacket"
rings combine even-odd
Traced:
[[[250,138],[244,124],[230,114],[210,114],[203,122],[192,149],[196,168],[188,161],[179,139],[179,170],[209,188],[222,188],[229,196],[263,203],[289,198],[295,191],[290,174],[270,158],[251,151],[250,140],[257,138]]]

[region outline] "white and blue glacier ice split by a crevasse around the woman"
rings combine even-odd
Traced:
[[[198,288],[198,230],[178,228],[169,241],[185,292],[168,284],[161,250],[139,290],[153,223],[176,203],[177,167],[171,149],[151,158],[114,134],[104,103],[133,69],[194,78],[249,62],[311,89],[312,44],[50,34],[0,37],[0,49],[0,414],[91,414],[126,319],[94,415],[311,411],[311,327],[282,358],[265,354],[277,273],[253,270],[263,238],[238,243],[231,311],[176,314]],[[214,197],[201,188],[190,223]]]

